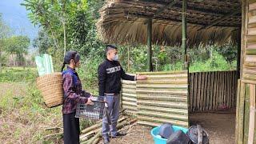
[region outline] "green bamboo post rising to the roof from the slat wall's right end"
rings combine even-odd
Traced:
[[[182,1],[182,49],[184,50],[184,69],[187,69],[186,58],[186,0]]]

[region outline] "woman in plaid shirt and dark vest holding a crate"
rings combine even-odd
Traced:
[[[65,65],[68,64],[66,70],[63,71]],[[80,55],[78,52],[70,50],[66,52],[63,66],[63,89],[64,102],[62,106],[64,144],[79,143],[79,118],[75,118],[75,111],[78,103],[86,103],[93,105],[91,94],[82,90],[82,84],[75,68],[80,66]]]

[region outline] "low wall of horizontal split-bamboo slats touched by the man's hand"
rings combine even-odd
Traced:
[[[137,114],[138,123],[142,125],[159,126],[170,122],[189,126],[187,72],[140,74],[146,74],[147,80],[137,83],[122,81],[122,107]]]

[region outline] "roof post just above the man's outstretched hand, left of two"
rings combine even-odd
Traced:
[[[148,71],[153,71],[153,66],[152,66],[152,19],[149,18],[147,21],[147,66],[148,66]]]

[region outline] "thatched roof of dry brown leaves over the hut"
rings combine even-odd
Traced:
[[[236,42],[241,27],[240,0],[188,0],[188,45]],[[146,19],[153,18],[152,42],[182,43],[182,0],[106,0],[100,10],[102,41],[146,44]],[[212,26],[213,25],[213,26]]]

